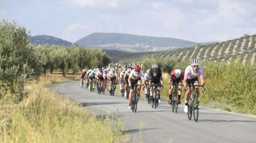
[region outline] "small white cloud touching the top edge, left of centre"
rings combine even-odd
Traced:
[[[78,6],[80,8],[85,8],[85,7],[112,7],[115,8],[117,7],[117,0],[109,0],[109,1],[104,1],[104,0],[66,0],[69,3]]]

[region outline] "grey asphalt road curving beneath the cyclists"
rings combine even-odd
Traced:
[[[129,134],[133,142],[256,142],[256,117],[201,107],[195,122],[193,117],[188,120],[183,105],[173,113],[167,102],[161,101],[153,109],[145,99],[140,99],[134,113],[120,95],[98,95],[96,90],[80,88],[79,81],[51,88],[98,115],[117,115],[124,124],[123,134]]]

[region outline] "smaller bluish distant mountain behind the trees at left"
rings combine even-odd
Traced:
[[[30,36],[29,41],[31,43],[36,44],[36,45],[39,45],[39,44],[41,44],[41,45],[42,44],[49,44],[49,45],[55,44],[55,45],[70,46],[70,45],[73,44],[69,41],[62,40],[60,38],[56,38],[56,37],[53,37],[53,36],[47,36],[47,35]]]

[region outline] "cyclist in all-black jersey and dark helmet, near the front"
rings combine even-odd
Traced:
[[[150,69],[150,76],[148,78],[148,85],[150,85],[150,96],[151,99],[153,99],[153,86],[154,84],[161,84],[161,87],[163,87],[163,77],[162,77],[162,71],[158,68],[157,64],[153,64],[152,68]],[[157,94],[158,96],[158,104],[160,104],[160,88],[157,88]]]

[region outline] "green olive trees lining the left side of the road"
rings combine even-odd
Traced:
[[[68,69],[74,74],[87,67],[102,67],[111,62],[110,57],[97,49],[84,47],[34,45],[29,42],[30,32],[15,21],[0,21],[0,100],[19,102],[26,95],[27,79],[61,69],[66,76]],[[6,92],[13,97],[5,97]]]

